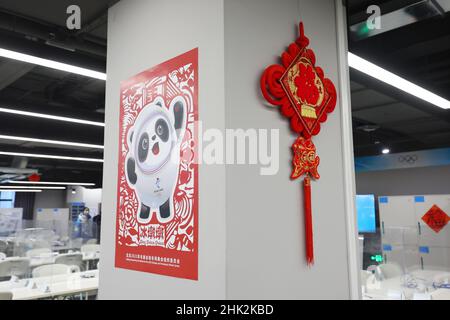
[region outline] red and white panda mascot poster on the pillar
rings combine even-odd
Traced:
[[[198,49],[121,83],[117,268],[198,279]]]

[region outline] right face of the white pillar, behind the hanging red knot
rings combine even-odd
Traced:
[[[315,265],[304,258],[301,180],[290,181],[294,135],[286,118],[266,107],[263,69],[298,36],[302,19],[317,63],[339,90],[333,0],[225,1],[227,128],[280,130],[280,171],[227,167],[227,298],[347,299],[341,106],[314,137],[321,178],[312,183]],[[344,88],[348,89],[348,88]],[[356,275],[355,275],[356,277]]]

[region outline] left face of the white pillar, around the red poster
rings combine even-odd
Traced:
[[[199,168],[198,281],[114,268],[119,83],[195,47],[199,47],[199,118],[203,127],[220,129],[224,127],[222,0],[120,1],[109,11],[101,299],[225,298],[223,167]]]

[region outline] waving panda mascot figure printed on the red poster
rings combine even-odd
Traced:
[[[137,220],[147,224],[153,212],[160,223],[174,216],[180,145],[186,130],[186,101],[178,96],[169,108],[157,97],[146,105],[128,131],[125,171],[139,201]]]

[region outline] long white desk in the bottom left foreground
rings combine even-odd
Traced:
[[[84,276],[93,276],[86,278]],[[37,288],[27,286],[33,281]],[[45,288],[49,290],[45,290]],[[45,299],[57,296],[68,296],[83,292],[98,290],[98,270],[77,272],[67,275],[55,275],[50,277],[39,277],[21,279],[18,282],[0,282],[0,291],[11,291],[13,300]]]

